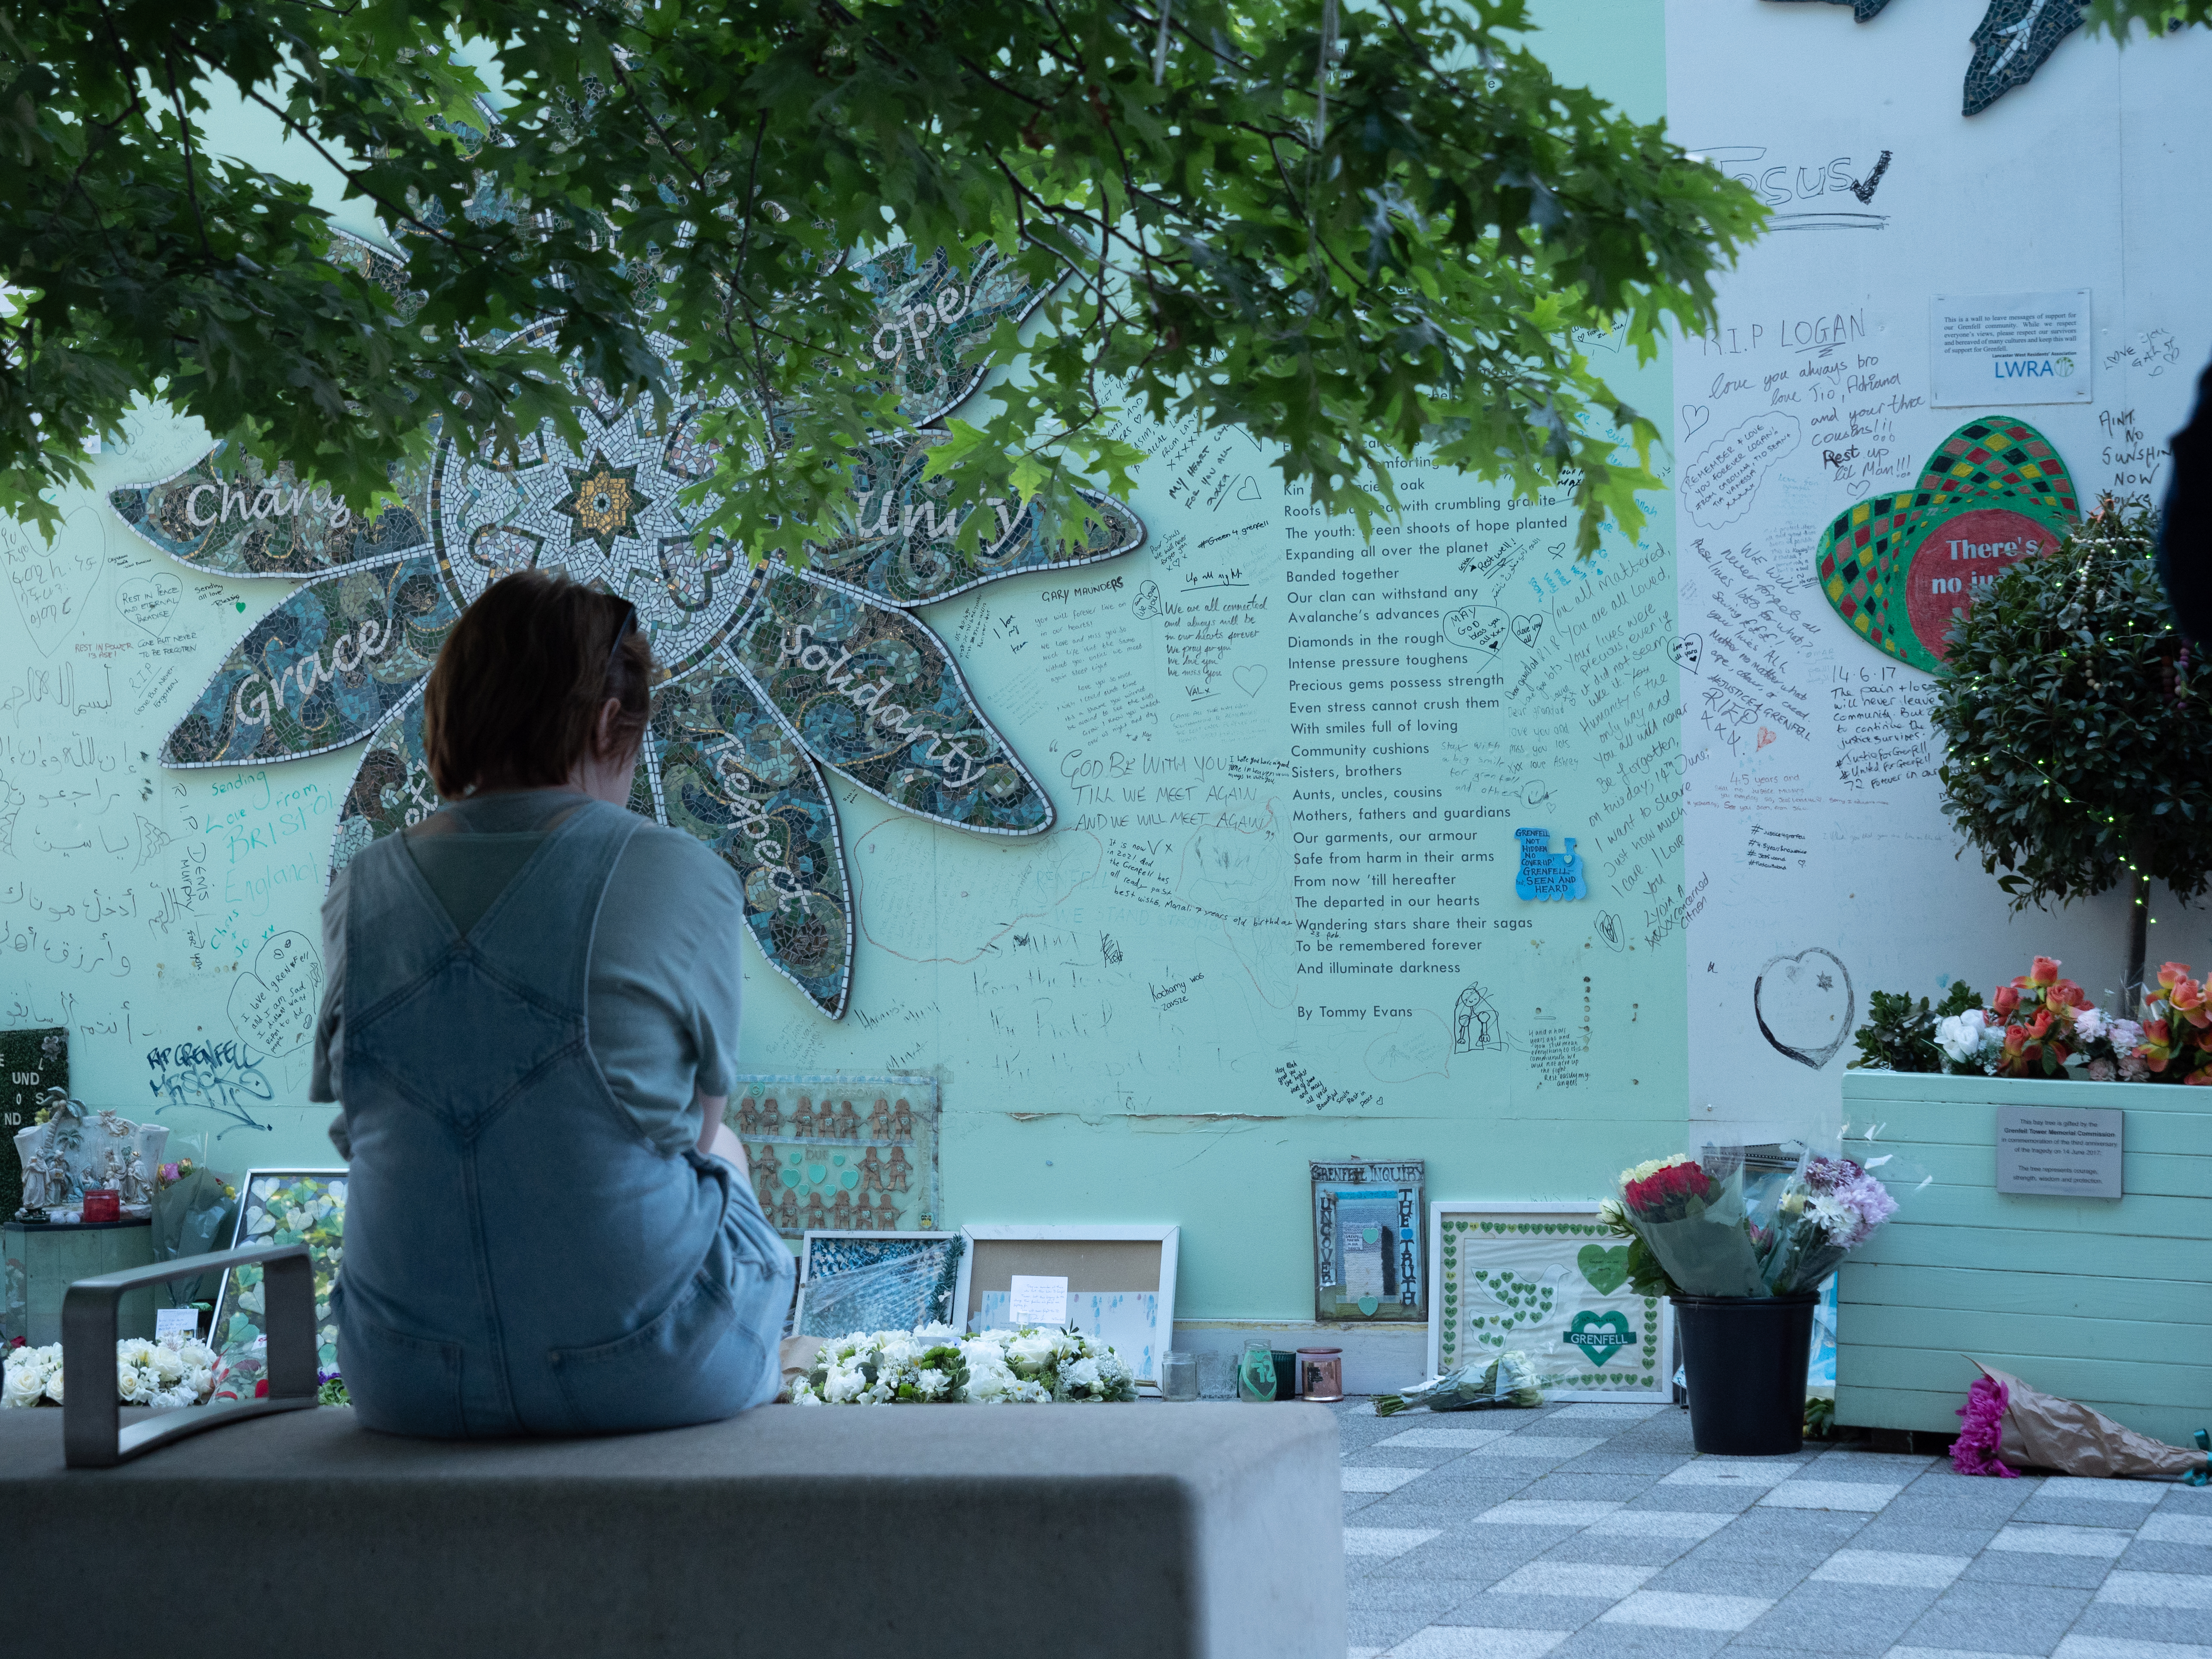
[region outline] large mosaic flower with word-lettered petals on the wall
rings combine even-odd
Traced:
[[[334,254],[398,290],[367,243]],[[905,812],[998,836],[1053,827],[1053,803],[978,708],[920,611],[984,582],[1110,560],[1144,542],[1121,502],[1084,493],[1079,522],[1013,500],[960,500],[922,478],[936,425],[993,367],[989,338],[1044,290],[984,246],[964,263],[911,248],[858,263],[876,296],[863,349],[898,392],[902,427],[856,469],[810,564],[750,564],[699,529],[679,491],[717,451],[701,414],[737,394],[688,387],[666,422],[573,376],[591,434],[540,431],[507,467],[438,447],[403,504],[374,520],[217,449],[115,511],[177,564],[294,584],[232,648],[161,745],[170,768],[268,765],[363,745],[332,869],[438,807],[422,757],[422,679],[445,637],[513,571],[566,571],[630,599],[668,681],[655,692],[630,807],[684,830],[739,874],[768,962],[832,1020],[852,991],[852,891],[827,774]],[[531,334],[551,332],[538,323]],[[661,341],[672,352],[670,341]],[[956,535],[973,513],[987,533]]]

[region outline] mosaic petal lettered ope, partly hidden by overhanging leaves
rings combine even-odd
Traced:
[[[978,243],[958,268],[942,248],[918,261],[914,246],[902,243],[854,270],[876,296],[869,356],[889,369],[898,416],[916,427],[982,385],[991,330],[1009,316],[1020,323],[1051,292],[1022,276],[991,241]]]

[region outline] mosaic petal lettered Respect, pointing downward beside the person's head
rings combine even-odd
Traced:
[[[852,993],[845,845],[814,757],[717,653],[653,697],[655,816],[739,874],[761,956],[832,1020]]]

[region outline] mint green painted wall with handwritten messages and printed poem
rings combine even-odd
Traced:
[[[1661,113],[1659,0],[1535,11],[1557,29],[1531,44],[1566,80],[1639,119]],[[215,139],[310,179],[338,226],[376,234],[363,204],[341,201],[334,175],[257,113],[219,117]],[[1672,407],[1668,356],[1637,365],[1613,338],[1586,349],[1630,405]],[[1062,827],[1026,843],[962,836],[845,792],[860,894],[852,1013],[823,1022],[730,940],[748,973],[743,1066],[929,1071],[945,1099],[940,1225],[1175,1221],[1179,1314],[1301,1321],[1310,1159],[1420,1157],[1429,1197],[1595,1199],[1621,1166],[1681,1146],[1672,498],[1650,502],[1641,546],[1613,538],[1577,566],[1571,526],[1551,526],[1564,502],[1509,504],[1458,473],[1405,469],[1413,511],[1363,544],[1349,524],[1301,515],[1241,434],[1133,422],[1126,436],[1155,449],[1133,495],[1146,549],[1088,580],[1002,582],[925,613]],[[168,1124],[170,1155],[230,1172],[321,1166],[330,1108],[305,1102],[305,1048],[257,1053],[230,1011],[268,940],[321,942],[330,836],[361,748],[265,770],[153,765],[288,584],[179,571],[104,500],[204,445],[195,425],[148,414],[93,462],[95,489],[64,502],[62,546],[88,573],[75,633],[33,641],[0,606],[0,661],[35,675],[0,734],[0,776],[35,796],[7,867],[20,909],[0,914],[18,925],[0,1002],[11,1026],[69,1024],[77,1093]],[[1354,557],[1296,557],[1318,549]],[[1321,571],[1340,580],[1287,580]],[[1159,608],[1139,604],[1148,584]],[[1327,586],[1340,597],[1316,604]],[[1409,591],[1442,597],[1391,597]],[[1259,602],[1256,633],[1221,619],[1217,599]],[[1498,606],[1528,639],[1506,633],[1482,664],[1447,653],[1440,613],[1469,604]],[[1356,622],[1307,622],[1316,613]],[[1371,644],[1321,650],[1336,661],[1325,670],[1292,644],[1345,635]],[[1194,666],[1214,644],[1212,670]],[[1398,666],[1358,670],[1349,655]],[[1460,661],[1416,661],[1440,655]],[[1447,677],[1495,684],[1389,686]],[[1380,684],[1352,686],[1365,679]],[[1363,708],[1310,712],[1340,701]],[[1416,706],[1444,701],[1491,706]],[[1369,730],[1303,730],[1347,723]],[[1345,745],[1378,752],[1303,754]],[[1577,838],[1588,900],[1513,896],[1513,832],[1531,825],[1555,849]],[[1380,889],[1400,902],[1367,918],[1400,922],[1391,931],[1314,927],[1352,911],[1323,905],[1336,887],[1301,880],[1402,867],[1298,863],[1369,852],[1301,836],[1385,830],[1394,854],[1436,854],[1411,869],[1451,883]],[[1473,902],[1416,902],[1431,894]],[[1389,949],[1358,949],[1378,942]],[[1495,1011],[1498,1046],[1455,1031],[1469,991]]]

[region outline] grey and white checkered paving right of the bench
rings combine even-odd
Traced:
[[[2212,1659],[2212,1486],[1338,1407],[1352,1659]]]

